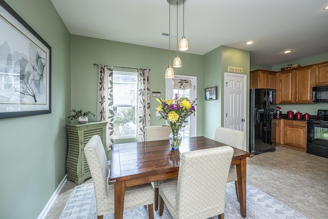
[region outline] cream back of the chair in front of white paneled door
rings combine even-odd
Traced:
[[[238,149],[243,149],[245,133],[243,131],[217,127],[214,135],[214,141],[229,145]]]

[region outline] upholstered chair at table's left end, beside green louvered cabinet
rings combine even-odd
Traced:
[[[98,135],[91,137],[84,148],[96,196],[98,219],[114,213],[114,185],[108,184],[109,168],[103,143]],[[124,210],[148,205],[149,218],[154,218],[154,190],[151,184],[125,189]]]

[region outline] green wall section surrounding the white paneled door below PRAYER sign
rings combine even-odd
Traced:
[[[243,68],[247,75],[247,88],[249,88],[250,52],[226,46],[220,46],[203,55],[204,62],[204,88],[218,86],[218,99],[204,102],[203,107],[203,136],[214,138],[216,127],[224,127],[224,72],[228,66]],[[247,92],[249,99],[249,92]],[[249,103],[247,103],[248,115]],[[247,133],[248,133],[248,120]]]

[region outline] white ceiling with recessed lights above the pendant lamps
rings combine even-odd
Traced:
[[[169,49],[168,36],[161,35],[169,33],[167,0],[51,1],[71,34]],[[203,55],[223,45],[250,51],[252,64],[297,64],[293,61],[328,52],[327,5],[327,0],[186,0],[187,52]],[[179,5],[178,40],[182,15]],[[174,35],[176,17],[173,5]],[[176,37],[171,49],[176,50]]]

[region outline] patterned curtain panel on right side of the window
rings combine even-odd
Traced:
[[[138,69],[137,142],[145,142],[146,126],[150,126],[149,70]]]

